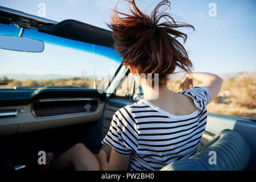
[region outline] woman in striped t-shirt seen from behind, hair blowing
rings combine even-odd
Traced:
[[[170,2],[160,2],[150,15],[142,13],[134,0],[131,15],[114,10],[109,27],[114,48],[142,86],[144,100],[119,109],[99,154],[76,144],[52,166],[77,170],[159,170],[176,160],[194,155],[207,122],[207,104],[220,91],[222,79],[210,73],[191,73],[192,63],[177,38],[187,35],[177,28],[189,27],[167,13]],[[120,17],[119,15],[122,15]],[[187,72],[182,92],[167,88],[176,68]],[[192,78],[203,84],[193,89]],[[59,168],[60,169],[60,168]]]

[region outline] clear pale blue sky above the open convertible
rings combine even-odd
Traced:
[[[135,2],[144,11],[150,11],[160,1]],[[229,73],[256,70],[255,0],[171,0],[170,2],[171,15],[195,27],[195,32],[188,31],[188,40],[185,43],[195,68],[194,72]],[[42,3],[46,7],[45,14],[40,11],[39,5]],[[109,23],[109,15],[112,13],[110,8],[114,8],[116,3],[117,0],[1,0],[0,6],[32,15],[45,15],[44,18],[57,22],[75,19],[109,30],[106,23]],[[216,9],[211,5],[216,5]],[[127,13],[127,4],[123,0],[119,1],[118,10]],[[54,48],[51,50],[54,51]],[[36,66],[36,63],[34,64]],[[51,64],[54,68],[59,63],[56,61]],[[116,63],[113,64],[113,68],[117,67]],[[42,70],[49,72],[46,69]],[[74,67],[73,73],[75,72]]]

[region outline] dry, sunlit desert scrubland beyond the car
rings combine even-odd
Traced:
[[[209,112],[237,115],[241,117],[256,119],[256,71],[254,73],[236,73],[232,77],[224,78],[222,88],[218,96],[207,106]],[[0,88],[14,88],[15,86],[79,86],[93,88],[92,78],[59,78],[53,80],[14,80],[2,77]],[[101,81],[96,80],[96,86]],[[179,89],[180,78],[171,78],[168,87],[174,92]],[[195,80],[193,86],[200,86],[200,82]],[[121,89],[123,89],[121,87]],[[123,89],[119,93],[126,93]]]

